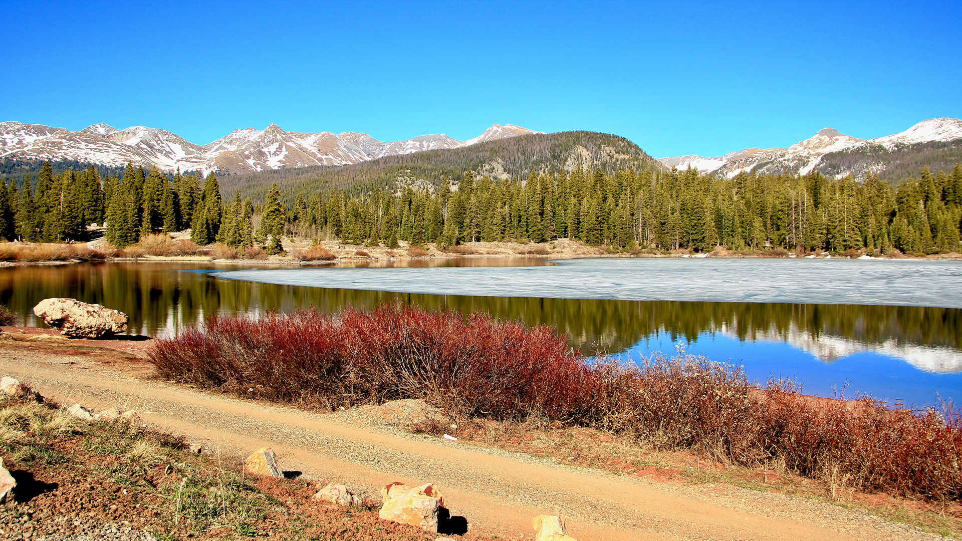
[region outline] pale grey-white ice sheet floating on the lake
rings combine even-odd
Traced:
[[[429,295],[962,308],[962,262],[578,259],[549,267],[225,270],[238,280]]]

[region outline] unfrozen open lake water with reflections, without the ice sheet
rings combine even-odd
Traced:
[[[416,263],[545,264],[537,259]],[[34,317],[32,308],[40,299],[72,296],[128,314],[129,332],[150,336],[172,333],[212,314],[291,312],[309,307],[331,313],[345,306],[366,309],[390,302],[464,313],[483,310],[500,319],[550,325],[568,333],[572,345],[586,352],[601,349],[639,356],[656,349],[671,351],[681,342],[718,360],[744,361],[749,372],[763,381],[768,374],[792,373],[805,381],[807,389],[823,395],[831,384],[844,382],[850,375],[845,371],[857,361],[868,363],[859,365],[858,370],[863,371],[860,381],[867,383],[858,390],[879,394],[866,373],[884,372],[886,377],[898,375],[901,379],[893,385],[923,385],[919,397],[924,393],[933,396],[934,388],[943,397],[957,394],[962,399],[962,392],[955,393],[956,383],[949,382],[962,378],[962,309],[957,308],[425,295],[229,280],[207,273],[215,269],[225,267],[141,262],[4,268],[0,269],[0,303],[8,305],[20,323],[38,325],[42,322]],[[899,370],[893,368],[896,365]],[[929,381],[918,374],[935,379]],[[873,381],[878,379],[873,377]],[[932,387],[930,383],[936,380],[946,385]],[[819,389],[812,389],[813,385]],[[962,382],[958,388],[962,389]]]

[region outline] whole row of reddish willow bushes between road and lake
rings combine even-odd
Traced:
[[[835,488],[931,500],[962,496],[962,427],[951,412],[814,399],[792,382],[681,353],[589,362],[551,329],[414,308],[212,318],[158,340],[166,377],[328,408],[425,398],[459,416],[545,418],[656,449],[764,466]]]

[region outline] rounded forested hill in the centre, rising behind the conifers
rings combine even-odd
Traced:
[[[600,168],[613,173],[619,168],[664,168],[633,142],[595,132],[560,132],[522,135],[480,142],[462,148],[428,150],[388,156],[342,167],[298,167],[221,177],[225,193],[263,200],[277,184],[282,200],[291,204],[297,193],[338,189],[353,196],[376,189],[430,187],[443,179],[460,181],[465,171],[495,180],[526,178],[530,171],[549,172],[576,167]]]

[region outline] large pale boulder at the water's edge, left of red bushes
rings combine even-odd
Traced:
[[[127,315],[123,312],[76,298],[44,298],[34,306],[34,314],[73,338],[98,338],[127,330]]]

